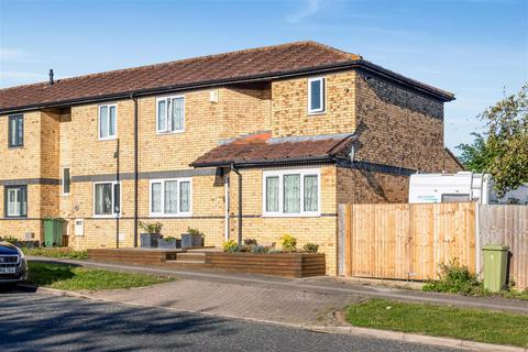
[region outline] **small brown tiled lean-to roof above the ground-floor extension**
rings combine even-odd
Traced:
[[[348,155],[352,143],[351,136],[351,134],[334,134],[272,139],[271,133],[262,133],[217,146],[190,165],[209,167],[230,164],[256,165],[329,161]]]

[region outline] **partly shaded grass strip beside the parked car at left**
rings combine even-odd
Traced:
[[[173,277],[118,273],[68,264],[30,262],[29,283],[67,290],[131,288],[172,282]]]

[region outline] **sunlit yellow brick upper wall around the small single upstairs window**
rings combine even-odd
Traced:
[[[326,111],[308,114],[308,77],[272,82],[273,136],[352,133],[355,130],[355,75],[326,78]]]

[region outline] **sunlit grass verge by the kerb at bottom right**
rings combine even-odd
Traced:
[[[528,316],[370,299],[346,308],[355,327],[528,348]]]

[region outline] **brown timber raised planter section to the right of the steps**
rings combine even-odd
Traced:
[[[307,277],[326,274],[322,253],[224,253],[210,252],[206,264],[215,270],[265,274],[274,276]]]

